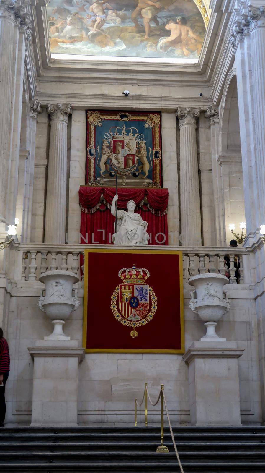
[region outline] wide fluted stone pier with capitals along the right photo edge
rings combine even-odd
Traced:
[[[245,245],[251,245],[259,239],[259,226],[265,221],[265,5],[248,6],[248,12],[234,23],[229,42],[235,50],[237,70]]]

